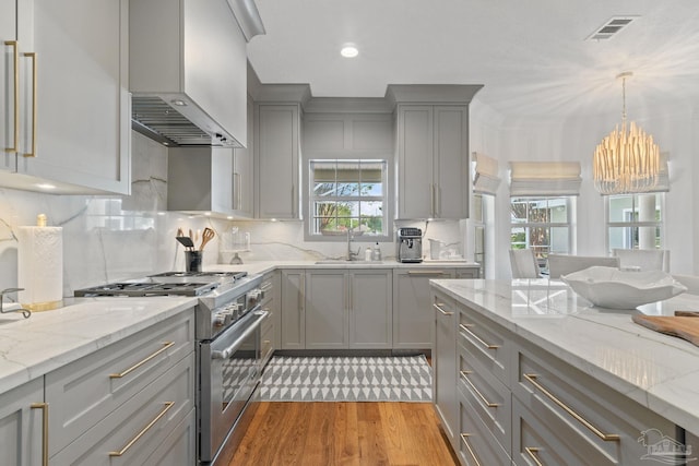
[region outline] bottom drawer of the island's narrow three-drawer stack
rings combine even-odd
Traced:
[[[459,397],[459,461],[464,466],[496,466],[511,464],[510,456],[495,440],[475,414],[464,394]]]

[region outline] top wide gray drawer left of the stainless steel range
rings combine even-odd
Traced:
[[[109,345],[46,375],[49,452],[62,450],[194,348],[193,312]]]

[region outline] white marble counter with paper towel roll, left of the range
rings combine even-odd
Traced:
[[[197,298],[75,298],[66,307],[0,315],[0,393],[90,355],[197,303]]]

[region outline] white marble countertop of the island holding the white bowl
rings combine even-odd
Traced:
[[[436,279],[433,285],[611,389],[699,434],[699,347],[632,322],[699,311],[679,295],[637,310],[592,307],[561,282]],[[699,319],[699,318],[698,318]]]

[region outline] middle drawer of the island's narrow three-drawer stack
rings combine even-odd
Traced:
[[[459,345],[459,390],[485,427],[509,452],[512,441],[512,393]]]

